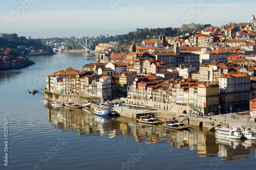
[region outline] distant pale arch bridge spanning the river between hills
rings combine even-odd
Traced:
[[[47,45],[59,42],[59,41],[73,41],[77,44],[79,44],[80,46],[82,46],[84,48],[84,50],[86,51],[90,51],[90,47],[91,47],[91,40],[95,40],[96,38],[90,38],[90,37],[86,37],[86,38],[75,38],[75,37],[71,37],[71,38],[41,38],[41,42],[45,43]]]

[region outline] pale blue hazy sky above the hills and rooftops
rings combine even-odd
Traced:
[[[0,33],[63,37],[126,34],[188,22],[221,26],[256,16],[255,1],[11,0],[1,1]],[[255,12],[255,13],[254,13]]]

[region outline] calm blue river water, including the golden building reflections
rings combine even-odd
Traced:
[[[0,169],[254,169],[255,142],[217,139],[207,129],[165,130],[131,118],[102,118],[92,110],[54,109],[41,93],[46,76],[71,66],[84,53],[34,56],[36,64],[0,71]],[[4,151],[8,118],[8,152]],[[8,153],[8,167],[3,158]]]

